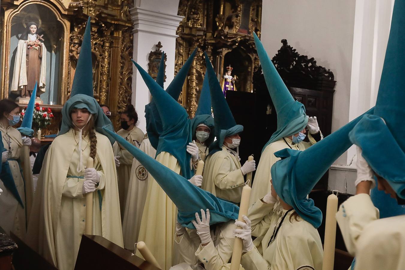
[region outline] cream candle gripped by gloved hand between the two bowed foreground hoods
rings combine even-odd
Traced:
[[[252,188],[245,185],[242,189],[241,206],[239,207],[238,221],[245,222],[242,216],[247,216],[247,211],[249,210],[249,199],[250,192]],[[238,227],[241,229],[241,227]],[[243,242],[241,238],[235,237],[235,242],[233,244],[232,259],[230,261],[230,270],[239,270],[239,265],[241,264]]]

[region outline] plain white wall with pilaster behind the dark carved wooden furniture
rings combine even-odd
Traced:
[[[270,57],[281,39],[335,75],[332,131],[375,105],[394,0],[263,0],[262,43]],[[354,192],[355,150],[329,171],[329,188]]]

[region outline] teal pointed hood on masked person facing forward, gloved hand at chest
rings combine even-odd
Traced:
[[[193,139],[196,137],[196,129],[200,124],[205,124],[211,132],[208,139],[205,141],[206,146],[210,146],[215,138],[214,118],[211,116],[211,94],[209,93],[208,76],[205,73],[203,81],[203,89],[201,89],[200,99],[194,118],[191,120],[191,130]]]

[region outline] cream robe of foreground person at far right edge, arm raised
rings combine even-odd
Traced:
[[[405,215],[378,219],[368,194],[341,204],[336,214],[343,240],[356,256],[355,270],[403,270],[405,266]]]

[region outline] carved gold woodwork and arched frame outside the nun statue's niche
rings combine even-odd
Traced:
[[[51,105],[55,120],[44,135],[55,133],[61,118],[62,105],[70,96],[70,88],[75,75],[77,59],[87,21],[92,23],[92,62],[94,97],[106,104],[112,112],[111,119],[118,126],[117,113],[125,109],[132,96],[132,56],[133,34],[129,9],[131,0],[2,0],[0,39],[1,85],[0,98],[9,97],[11,22],[15,16],[27,16],[21,10],[31,4],[45,6],[51,11],[63,31],[63,49],[60,52],[60,83],[58,103]],[[35,15],[34,13],[31,15]],[[38,15],[37,15],[38,16]],[[43,21],[44,22],[44,21]],[[54,43],[53,43],[54,44]]]

